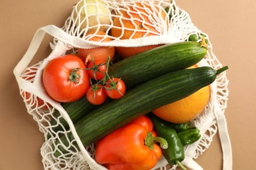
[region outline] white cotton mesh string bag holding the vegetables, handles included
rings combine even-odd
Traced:
[[[96,7],[98,14],[88,13],[89,6]],[[165,8],[169,10],[165,12]],[[142,12],[141,12],[142,11]],[[135,17],[140,12],[139,17]],[[128,16],[125,16],[125,13]],[[120,25],[114,26],[114,18],[119,18]],[[133,20],[131,20],[131,18]],[[124,20],[132,24],[127,28]],[[137,23],[140,23],[138,25]],[[135,25],[133,25],[135,24]],[[112,29],[118,29],[119,35],[112,36]],[[89,41],[93,35],[87,35],[89,31],[105,31],[103,39],[110,37],[113,41]],[[123,38],[124,32],[129,31],[130,37]],[[134,39],[137,33],[142,37]],[[30,65],[30,61],[39,48],[45,33],[53,36],[51,48],[53,51],[42,61]],[[196,35],[201,41],[202,35],[208,40],[208,52],[198,65],[208,65],[219,69],[222,64],[213,54],[213,46],[207,34],[198,29],[190,20],[190,16],[180,9],[175,1],[79,1],[70,17],[67,18],[64,27],[54,25],[41,27],[35,33],[32,42],[23,58],[14,68],[14,75],[20,88],[20,94],[24,99],[28,113],[37,122],[39,130],[45,136],[45,142],[41,146],[43,166],[45,169],[105,169],[95,161],[95,144],[84,147],[79,139],[74,124],[62,105],[47,95],[41,81],[42,71],[51,59],[58,58],[77,48],[95,48],[97,46],[148,46],[153,44],[168,44],[188,41],[190,35]],[[194,144],[185,147],[185,159],[182,163],[191,169],[203,169],[196,163],[196,158],[203,154],[209,147],[213,136],[219,129],[221,146],[223,149],[223,169],[232,169],[232,152],[224,110],[228,100],[228,80],[226,73],[221,73],[211,84],[211,99],[198,116],[191,123],[200,129],[202,138]],[[60,114],[56,114],[59,112]],[[68,127],[64,126],[61,119],[66,120]],[[51,124],[54,120],[56,124]],[[61,126],[63,130],[54,131],[54,127]],[[72,133],[73,140],[68,139],[68,145],[60,141],[61,136]],[[62,145],[66,149],[60,157],[54,156],[56,145]],[[71,150],[70,148],[75,148]],[[167,169],[167,161],[161,158],[154,169]],[[176,166],[170,167],[176,169]]]

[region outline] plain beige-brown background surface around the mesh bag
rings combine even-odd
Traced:
[[[35,31],[54,24],[62,27],[76,1],[0,1],[1,96],[0,169],[43,169],[40,148],[43,134],[19,95],[12,70],[22,58]],[[255,30],[256,1],[182,1],[198,28],[209,35],[213,52],[229,65],[230,81],[226,120],[232,142],[233,169],[256,169],[255,135]],[[37,52],[43,58],[51,52],[47,36]],[[221,144],[215,135],[209,149],[198,158],[204,169],[222,169]]]

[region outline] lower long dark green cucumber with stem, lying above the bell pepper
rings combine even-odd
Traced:
[[[227,66],[217,71],[211,67],[182,69],[148,80],[125,93],[120,99],[96,107],[75,123],[77,135],[83,145],[88,146],[127,122],[163,105],[187,97],[211,84],[216,76],[226,69],[228,69]],[[74,139],[71,133],[68,138]],[[62,136],[60,140],[69,146],[65,136]],[[65,152],[61,145],[58,149]],[[60,155],[59,152],[55,154]]]

